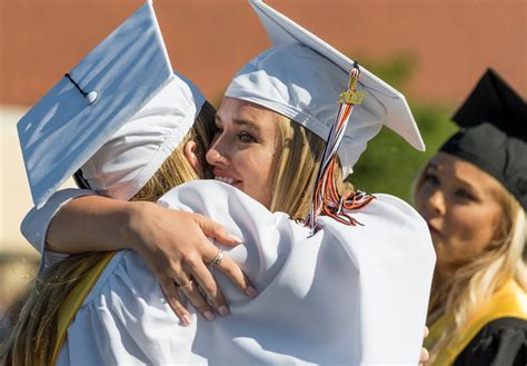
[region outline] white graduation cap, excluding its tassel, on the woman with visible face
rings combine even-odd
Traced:
[[[249,2],[274,47],[247,63],[225,95],[272,109],[327,140],[355,62],[260,0]],[[345,176],[382,125],[425,150],[405,97],[365,68],[360,72],[357,91],[366,97],[355,106],[338,150]]]

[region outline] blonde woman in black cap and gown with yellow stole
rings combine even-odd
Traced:
[[[432,365],[525,365],[526,111],[489,69],[454,117],[461,130],[417,179],[416,207],[437,253]]]

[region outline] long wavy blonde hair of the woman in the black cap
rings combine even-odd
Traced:
[[[426,168],[416,180],[414,196],[422,185]],[[494,196],[501,206],[503,215],[491,243],[478,258],[457,269],[448,281],[441,284],[435,276],[427,323],[431,325],[445,315],[453,318],[429,349],[430,365],[448,349],[470,317],[508,280],[515,280],[527,290],[525,210],[501,185]]]

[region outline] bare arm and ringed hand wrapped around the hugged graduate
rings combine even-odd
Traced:
[[[207,319],[213,318],[212,308],[192,278],[206,291],[213,308],[221,315],[228,314],[226,300],[207,268],[218,254],[218,248],[207,237],[225,245],[240,243],[223,227],[201,215],[171,210],[152,202],[83,196],[58,211],[49,226],[46,243],[49,249],[66,254],[136,250],[159,279],[176,315],[188,325],[188,311],[178,288]],[[230,258],[223,257],[218,268],[245,294],[256,296],[241,269]]]

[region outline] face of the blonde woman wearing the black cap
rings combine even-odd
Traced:
[[[476,166],[439,152],[427,167],[416,192],[416,208],[430,228],[437,265],[455,270],[494,239],[501,207],[499,182]]]

